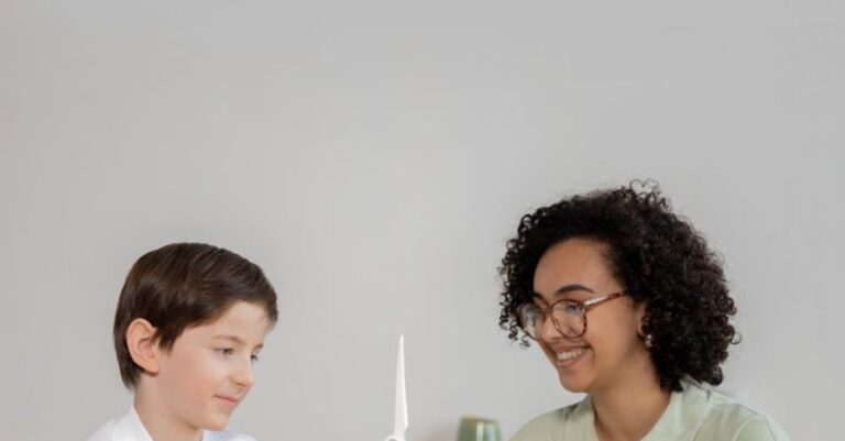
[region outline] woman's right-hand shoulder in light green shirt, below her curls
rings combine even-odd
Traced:
[[[684,395],[706,411],[696,439],[736,441],[789,441],[783,429],[768,415],[723,393],[695,384],[685,385]],[[715,438],[714,438],[715,437]]]

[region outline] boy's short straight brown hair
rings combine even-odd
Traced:
[[[169,350],[188,329],[215,321],[237,301],[264,308],[278,319],[276,293],[261,268],[231,251],[204,243],[173,243],[141,256],[127,275],[114,312],[114,350],[120,377],[135,385],[142,368],[132,361],[127,329],[138,319],[156,328],[156,343]]]

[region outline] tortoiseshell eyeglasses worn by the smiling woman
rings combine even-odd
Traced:
[[[624,295],[625,291],[618,291],[584,301],[561,299],[548,308],[536,304],[523,304],[516,309],[516,313],[519,318],[519,327],[534,340],[537,340],[537,334],[549,317],[558,332],[569,338],[579,338],[586,332],[586,311]]]

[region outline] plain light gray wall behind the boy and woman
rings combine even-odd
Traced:
[[[0,1],[0,428],[125,410],[122,279],[172,241],[268,274],[281,321],[233,427],[410,439],[572,403],[497,328],[522,214],[658,179],[725,257],[723,389],[795,440],[845,411],[845,3]]]

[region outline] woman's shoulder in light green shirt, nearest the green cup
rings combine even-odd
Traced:
[[[586,397],[579,403],[535,417],[523,426],[511,441],[546,441],[560,439],[563,434],[580,434],[584,427],[592,429],[592,403]]]

